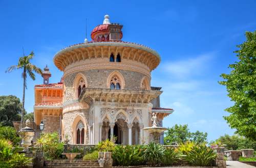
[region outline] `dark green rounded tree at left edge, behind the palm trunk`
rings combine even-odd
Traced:
[[[22,103],[16,96],[0,96],[0,125],[13,126],[12,121],[20,120]]]

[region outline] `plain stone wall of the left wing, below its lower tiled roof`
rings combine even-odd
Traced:
[[[60,131],[60,116],[43,116],[44,133]]]

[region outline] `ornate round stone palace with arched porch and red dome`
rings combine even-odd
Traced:
[[[160,107],[161,88],[151,86],[151,71],[160,56],[144,45],[122,41],[122,36],[122,25],[105,15],[91,32],[92,41],[55,54],[63,77],[49,83],[51,73],[44,68],[44,83],[34,87],[37,126],[42,121],[44,132],[57,131],[71,144],[97,144],[107,138],[130,145],[150,141],[142,129],[152,126],[152,114],[162,126],[174,111]]]

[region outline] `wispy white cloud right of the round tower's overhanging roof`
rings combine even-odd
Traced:
[[[214,52],[210,52],[186,60],[168,62],[162,66],[165,72],[170,73],[177,78],[187,78],[193,74],[202,74],[204,70],[209,67],[209,62],[213,57]]]

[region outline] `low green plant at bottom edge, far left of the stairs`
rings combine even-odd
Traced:
[[[18,154],[16,153],[15,155],[13,155],[13,157],[9,160],[9,164],[11,167],[21,167],[21,166],[25,166],[28,163],[31,162],[31,159],[26,157],[24,153],[22,154]]]

